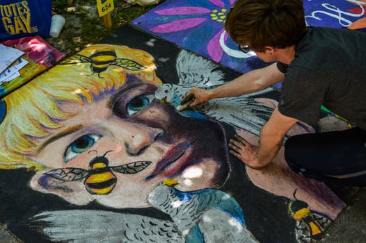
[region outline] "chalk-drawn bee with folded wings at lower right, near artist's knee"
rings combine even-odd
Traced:
[[[289,212],[296,220],[296,239],[299,242],[315,242],[320,240],[322,233],[331,224],[332,220],[319,212],[310,209],[308,203],[296,199],[289,203]]]

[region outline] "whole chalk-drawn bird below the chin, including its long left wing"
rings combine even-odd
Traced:
[[[181,192],[161,184],[149,202],[171,221],[104,210],[42,212],[32,219],[53,242],[257,242],[240,206],[219,190]]]

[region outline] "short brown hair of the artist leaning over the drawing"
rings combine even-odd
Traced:
[[[305,35],[302,0],[238,0],[228,13],[225,29],[234,42],[250,49],[285,48]]]

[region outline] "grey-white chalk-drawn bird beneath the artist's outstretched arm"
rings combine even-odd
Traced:
[[[156,99],[164,99],[177,107],[186,92],[193,86],[212,88],[224,83],[224,74],[217,65],[194,53],[182,50],[176,62],[178,84],[163,84],[157,92]],[[269,87],[260,92],[246,94],[240,97],[214,99],[197,107],[200,112],[209,117],[223,121],[237,128],[244,129],[254,135],[259,135],[260,128],[273,112],[273,108],[263,106],[254,97],[273,91]],[[190,110],[182,111],[182,115],[190,115]]]

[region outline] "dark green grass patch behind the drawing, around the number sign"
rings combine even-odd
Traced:
[[[95,0],[53,0],[52,14],[63,15],[67,24],[58,38],[49,38],[47,42],[71,56],[154,7],[133,5],[122,8],[123,3],[125,1],[114,0],[115,9],[111,12],[112,28],[104,28],[102,18],[97,15]],[[73,26],[73,23],[77,23],[78,26]]]

